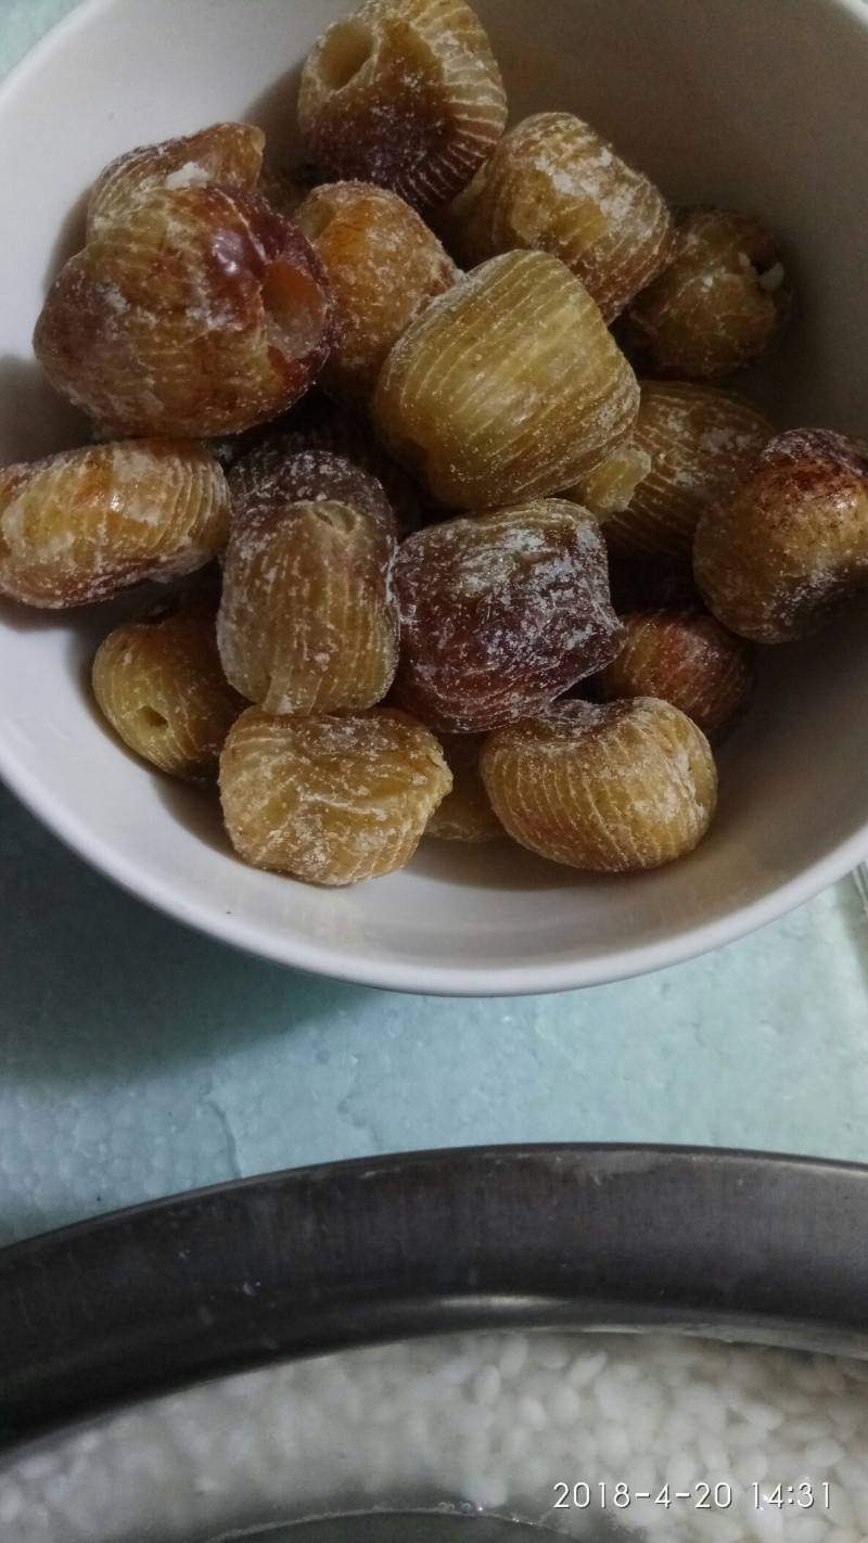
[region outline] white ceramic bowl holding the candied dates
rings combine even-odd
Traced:
[[[0,93],[0,457],[76,443],[31,330],[82,198],[133,145],[216,119],[293,134],[299,63],[352,0],[91,0]],[[567,108],[677,201],[763,214],[799,316],[755,389],[777,421],[868,424],[865,0],[479,0],[513,116]],[[79,430],[80,434],[80,430]],[[125,755],[86,690],[105,617],[0,613],[0,770],[133,893],[270,958],[424,992],[557,991],[685,960],[771,921],[868,853],[868,617],[769,651],[722,756],[705,846],[595,880],[503,844],[424,842],[412,867],[322,892],[237,863],[196,793]]]

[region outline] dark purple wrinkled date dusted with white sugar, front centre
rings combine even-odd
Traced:
[[[597,522],[540,498],[429,526],[395,565],[395,697],[435,730],[481,733],[540,711],[618,651]]]

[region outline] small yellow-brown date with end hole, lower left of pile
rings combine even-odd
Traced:
[[[160,606],[116,626],[94,659],[100,711],[136,755],[185,781],[216,781],[225,738],[247,705],[220,668],[214,599]]]

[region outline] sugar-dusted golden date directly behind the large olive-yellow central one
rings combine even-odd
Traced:
[[[449,227],[469,267],[521,248],[561,258],[606,321],[675,252],[672,216],[654,184],[570,113],[537,113],[504,134],[456,199]]]

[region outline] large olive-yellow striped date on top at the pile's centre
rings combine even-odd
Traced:
[[[558,258],[492,258],[432,301],[375,397],[385,444],[452,509],[570,488],[631,432],[638,384]]]

